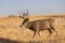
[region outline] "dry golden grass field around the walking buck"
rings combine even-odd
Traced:
[[[58,35],[53,31],[49,35],[49,31],[41,31],[41,38],[36,34],[32,39],[34,31],[26,27],[20,27],[23,18],[15,17],[0,17],[0,42],[4,43],[65,43],[65,17],[53,17],[62,15],[29,15],[29,22],[38,19],[54,18],[54,27]],[[65,16],[65,15],[63,15]]]

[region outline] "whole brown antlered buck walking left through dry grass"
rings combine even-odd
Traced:
[[[53,27],[53,22],[54,19],[39,19],[39,20],[34,20],[34,22],[29,22],[29,18],[28,18],[28,11],[27,13],[23,13],[23,16],[21,16],[24,22],[22,23],[22,25],[20,27],[23,27],[25,26],[26,28],[30,29],[34,31],[34,35],[32,38],[36,35],[36,33],[38,33],[40,35],[40,31],[42,30],[48,30],[50,32],[49,35],[51,35],[53,31],[55,31],[54,27]],[[55,31],[56,32],[56,31]],[[57,32],[56,32],[57,34]]]

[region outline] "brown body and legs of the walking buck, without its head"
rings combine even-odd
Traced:
[[[53,27],[53,19],[40,19],[34,22],[26,22],[23,26],[32,30],[35,32],[34,37],[36,35],[36,33],[40,35],[40,31],[42,30],[48,30],[50,34],[52,34],[52,30],[55,30]]]

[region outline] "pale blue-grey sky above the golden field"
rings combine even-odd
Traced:
[[[65,13],[65,0],[0,0],[0,16],[18,15],[27,9],[36,15]]]

